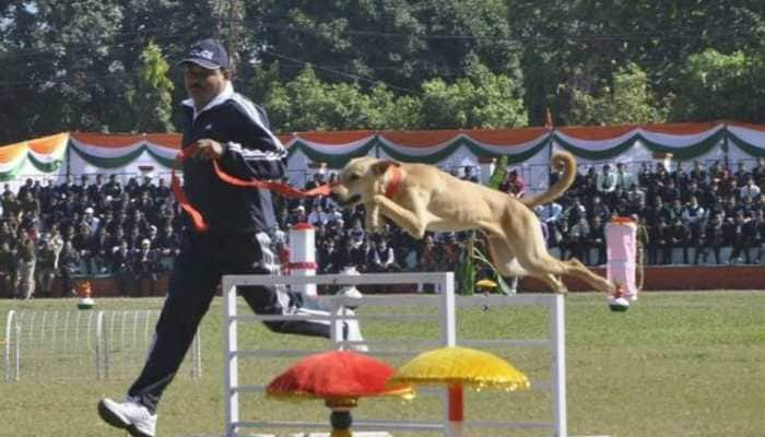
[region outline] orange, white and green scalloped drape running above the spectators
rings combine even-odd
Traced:
[[[580,163],[674,158],[731,161],[765,157],[765,126],[740,122],[667,123],[615,127],[563,127],[499,130],[329,131],[280,137],[293,170],[311,163],[342,167],[349,160],[373,155],[442,166],[473,164],[501,155],[510,164],[543,167],[554,150],[567,150]],[[67,147],[69,153],[67,154]],[[172,165],[178,134],[60,133],[0,147],[0,178],[23,172],[52,173],[62,164],[74,174],[136,170],[142,163]],[[67,161],[69,160],[69,161]],[[66,167],[64,167],[66,168]]]

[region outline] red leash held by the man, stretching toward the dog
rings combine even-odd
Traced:
[[[186,161],[191,153],[197,149],[196,143],[191,144],[190,146],[183,149],[178,154],[176,155],[176,161],[179,163],[183,163]],[[234,187],[240,187],[240,188],[255,188],[255,189],[261,189],[261,190],[270,190],[274,191],[285,198],[290,199],[301,199],[301,198],[310,198],[310,197],[317,197],[317,196],[329,196],[331,190],[332,190],[332,185],[330,184],[325,184],[322,186],[316,187],[314,189],[304,191],[304,190],[298,190],[295,187],[292,187],[287,184],[283,182],[273,182],[269,180],[258,180],[258,179],[250,179],[250,180],[244,180],[236,178],[234,176],[227,175],[223,173],[221,169],[220,165],[217,164],[217,161],[212,162],[213,167],[215,168],[215,174],[217,175],[221,180],[223,180],[226,184],[233,185]],[[184,192],[184,189],[180,187],[180,180],[178,179],[178,176],[175,174],[175,168],[173,168],[172,172],[172,181],[170,181],[170,188],[173,190],[173,196],[175,197],[176,202],[178,202],[178,205],[186,211],[187,214],[191,217],[191,222],[193,223],[193,228],[199,232],[203,233],[208,231],[208,224],[204,222],[204,217],[202,214],[197,211],[197,209],[191,205],[189,202],[188,198],[186,197],[186,193]]]

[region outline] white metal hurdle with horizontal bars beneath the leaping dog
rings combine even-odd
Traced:
[[[305,429],[322,429],[326,428],[326,422],[242,422],[239,417],[239,394],[240,393],[257,393],[263,392],[264,386],[240,386],[238,378],[239,357],[257,357],[257,356],[297,356],[306,355],[311,351],[246,351],[238,349],[237,340],[237,323],[239,321],[267,321],[267,320],[285,320],[285,319],[311,319],[327,320],[332,329],[332,338],[334,345],[343,343],[334,332],[336,321],[340,319],[354,319],[355,316],[338,315],[338,309],[342,305],[358,305],[357,300],[340,297],[325,297],[334,310],[331,316],[259,316],[259,315],[237,315],[237,293],[238,286],[247,285],[302,285],[306,281],[310,281],[317,285],[369,285],[369,284],[434,284],[443,291],[439,295],[413,295],[413,296],[375,296],[373,299],[365,298],[362,305],[379,306],[379,307],[411,307],[429,305],[437,307],[439,314],[437,317],[440,320],[439,339],[427,342],[426,346],[452,346],[457,345],[457,323],[456,308],[457,307],[482,307],[491,305],[495,307],[502,306],[543,306],[549,308],[550,314],[550,338],[544,340],[464,340],[460,341],[460,345],[481,346],[481,345],[506,345],[506,346],[545,346],[551,351],[551,378],[548,385],[552,390],[553,400],[553,420],[551,423],[536,422],[487,422],[487,421],[467,421],[466,427],[473,428],[526,428],[526,429],[550,429],[551,435],[555,437],[567,437],[566,432],[566,391],[565,391],[565,328],[564,328],[564,300],[560,295],[519,295],[519,296],[471,296],[455,298],[454,274],[451,272],[442,273],[378,273],[363,275],[317,275],[317,276],[275,276],[275,275],[226,275],[222,280],[223,291],[223,316],[224,316],[224,388],[225,388],[225,436],[226,437],[244,437],[240,429],[245,428],[305,428]],[[390,319],[390,320],[413,320],[433,318],[434,316],[415,316],[415,315],[375,315],[364,316],[361,319]],[[423,345],[423,342],[420,342]],[[369,344],[376,344],[370,341]],[[316,351],[319,352],[319,351]],[[412,352],[412,351],[408,351]],[[377,353],[375,353],[377,354]],[[448,404],[446,402],[446,390],[443,390],[444,399],[444,418],[440,422],[426,421],[355,421],[354,429],[356,430],[388,430],[401,429],[411,432],[429,432],[442,433],[445,436],[450,436],[451,430],[448,426]]]

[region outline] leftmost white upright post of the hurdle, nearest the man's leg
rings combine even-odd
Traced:
[[[227,276],[223,277],[223,345],[224,345],[224,371],[225,371],[225,403],[226,403],[226,430],[225,437],[235,436],[238,433],[234,423],[239,422],[239,385],[238,376],[238,350],[236,330],[236,285],[233,285]]]

